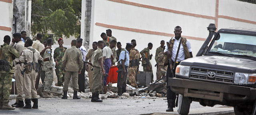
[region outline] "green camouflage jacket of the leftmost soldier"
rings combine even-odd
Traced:
[[[14,49],[14,47],[4,43],[0,48],[0,59],[9,62],[9,72],[14,73],[12,55],[16,58],[20,57],[20,53]],[[0,70],[0,73],[8,73],[4,70]]]

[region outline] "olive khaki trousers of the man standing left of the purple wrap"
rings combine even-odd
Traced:
[[[101,87],[101,68],[93,67],[92,93],[100,92]]]

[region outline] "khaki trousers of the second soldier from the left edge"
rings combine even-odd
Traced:
[[[17,88],[17,97],[16,102],[23,101],[23,75],[21,72],[24,70],[23,64],[16,64],[14,67],[14,79],[15,79],[15,87]]]

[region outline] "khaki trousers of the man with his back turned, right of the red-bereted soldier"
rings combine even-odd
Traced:
[[[63,91],[68,91],[68,84],[72,76],[73,90],[78,91],[78,72],[65,72]]]

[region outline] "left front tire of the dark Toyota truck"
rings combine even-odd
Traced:
[[[191,99],[179,94],[178,113],[180,115],[188,115],[191,102],[192,102]]]

